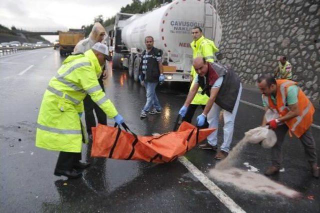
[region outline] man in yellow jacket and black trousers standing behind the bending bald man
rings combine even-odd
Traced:
[[[200,27],[194,27],[191,31],[192,39],[193,41],[190,43],[190,46],[192,48],[193,52],[193,59],[196,57],[202,56],[204,57],[206,62],[212,63],[215,60],[214,54],[218,52],[219,50],[215,47],[214,42],[206,39],[202,35],[202,30]],[[194,85],[194,77],[196,75],[196,72],[191,66],[191,73],[190,73],[190,81],[191,86]],[[197,108],[197,106],[201,106],[202,110],[204,109],[207,101],[209,100],[209,97],[204,94],[201,95],[202,89],[199,87],[197,94],[195,95],[193,101],[188,106],[187,112],[185,114],[185,117],[183,118],[183,121],[191,123],[192,117],[194,115],[194,112]]]

